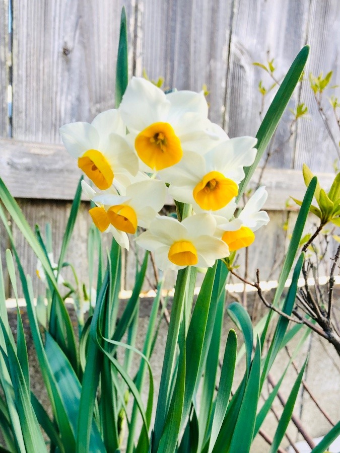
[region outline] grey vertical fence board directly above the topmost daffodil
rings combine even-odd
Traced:
[[[136,74],[165,78],[166,88],[210,94],[210,118],[222,124],[234,0],[139,3]]]

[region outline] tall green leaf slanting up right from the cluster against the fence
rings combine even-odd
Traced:
[[[303,68],[305,67],[308,58],[308,54],[309,46],[305,46],[300,50],[295,60],[293,61],[291,67],[289,68],[286,77],[282,81],[282,84],[277,94],[275,95],[273,102],[270,104],[270,107],[268,108],[268,111],[256,134],[257,154],[255,161],[251,167],[245,169],[245,178],[240,184],[236,202],[241,199],[244,190],[249,184],[249,181],[261,160],[261,157],[269,143],[270,138],[273,136],[275,129],[278,126],[280,118],[282,117],[282,114],[285,111],[286,106],[288,104],[288,101],[290,100],[295,90],[295,87],[299,82]]]

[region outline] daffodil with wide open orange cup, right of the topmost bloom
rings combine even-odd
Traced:
[[[203,156],[186,153],[180,163],[159,176],[170,184],[175,200],[192,204],[195,212],[217,211],[238,194],[243,167],[254,162],[255,144],[253,137],[225,140]]]

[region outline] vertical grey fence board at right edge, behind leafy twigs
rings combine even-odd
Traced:
[[[294,168],[300,169],[302,164],[306,163],[313,170],[330,172],[338,154],[318,113],[308,76],[310,71],[317,76],[321,71],[325,75],[332,70],[333,77],[330,85],[340,84],[340,2],[312,0],[308,23],[307,42],[310,44],[311,52],[306,68],[307,81],[303,84],[301,93],[301,102],[308,106],[308,119],[302,119],[298,123]],[[336,91],[338,94],[338,89]],[[322,105],[340,155],[339,128],[327,99],[333,93],[332,89],[324,92]]]

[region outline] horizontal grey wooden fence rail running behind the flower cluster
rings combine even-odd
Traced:
[[[63,146],[0,139],[0,150],[0,176],[14,197],[73,199],[81,171]],[[252,187],[258,181],[259,172],[257,169],[254,174]],[[321,185],[329,189],[334,175],[316,175]],[[305,193],[302,173],[298,170],[267,168],[261,181],[269,194],[266,209],[285,209],[290,195],[302,199]],[[172,203],[170,197],[167,203]]]

